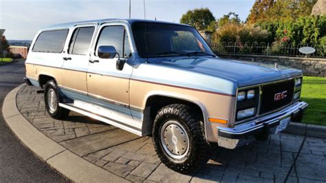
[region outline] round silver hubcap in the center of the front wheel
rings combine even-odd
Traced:
[[[184,158],[189,151],[188,134],[175,120],[170,120],[162,126],[161,142],[164,151],[175,159]]]

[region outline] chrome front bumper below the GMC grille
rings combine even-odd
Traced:
[[[254,135],[262,133],[264,130],[270,130],[270,133],[275,133],[275,129],[281,120],[296,116],[307,107],[308,104],[303,101],[296,102],[281,111],[244,122],[233,128],[217,127],[218,144],[220,147],[235,149],[254,141]]]

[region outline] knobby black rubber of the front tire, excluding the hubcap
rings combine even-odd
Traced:
[[[154,120],[152,138],[155,151],[166,166],[180,173],[191,173],[206,164],[209,159],[210,144],[205,138],[204,122],[199,120],[197,117],[199,115],[196,114],[197,112],[187,105],[173,104],[160,109]],[[161,141],[162,127],[171,120],[179,122],[186,134],[188,134],[188,149],[184,153],[184,158],[181,159],[175,159],[166,153],[169,150],[164,150]],[[163,130],[165,131],[165,129]],[[165,133],[164,131],[163,133]],[[168,146],[166,146],[166,149],[168,149]]]

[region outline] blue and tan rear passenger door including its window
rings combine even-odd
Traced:
[[[77,25],[72,32],[63,56],[63,93],[74,100],[89,101],[87,96],[87,69],[89,48],[96,32],[96,24]]]

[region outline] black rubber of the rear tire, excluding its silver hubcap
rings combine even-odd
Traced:
[[[56,97],[56,102],[54,103],[55,106],[55,110],[51,109],[48,100],[50,100],[48,98],[48,94],[49,92],[54,91],[55,93],[55,97]],[[58,94],[58,87],[56,86],[56,81],[55,80],[49,80],[47,81],[47,83],[45,84],[44,87],[44,103],[45,103],[45,109],[47,111],[47,113],[54,119],[57,120],[61,120],[66,118],[69,115],[70,110],[69,109],[65,109],[63,107],[59,106],[59,101],[60,101],[60,96]],[[53,107],[52,107],[53,108]]]

